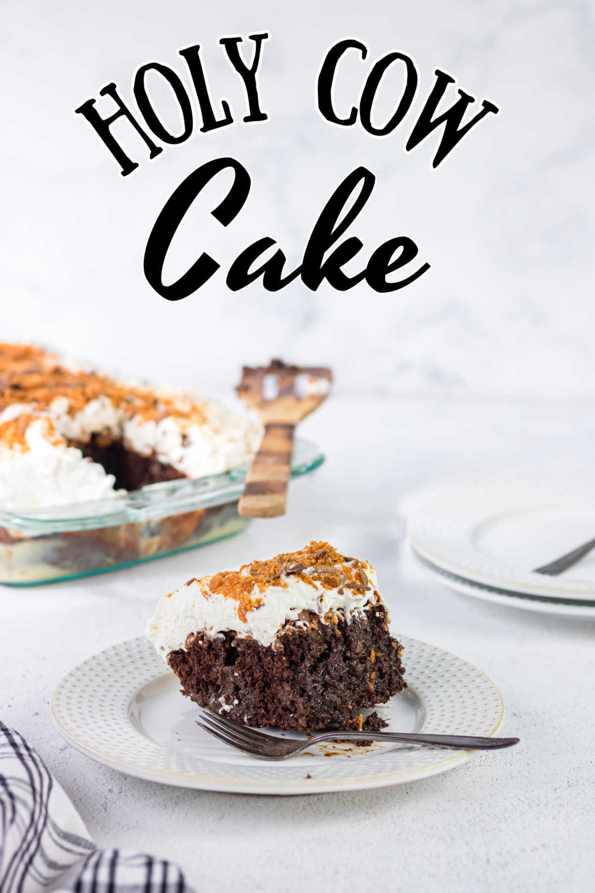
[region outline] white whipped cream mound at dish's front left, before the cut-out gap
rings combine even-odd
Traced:
[[[0,504],[66,505],[116,497],[114,478],[89,462],[79,449],[48,439],[48,421],[31,421],[25,432],[27,450],[4,450],[0,462]]]

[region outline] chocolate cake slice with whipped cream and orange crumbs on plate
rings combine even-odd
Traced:
[[[363,710],[405,688],[389,623],[374,568],[312,542],[188,580],[160,598],[147,636],[186,697],[236,722],[361,729]]]

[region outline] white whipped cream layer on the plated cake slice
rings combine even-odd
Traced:
[[[161,596],[147,625],[146,635],[166,663],[171,651],[184,649],[191,633],[217,638],[222,632],[236,630],[241,638],[252,637],[268,647],[285,623],[297,620],[301,611],[311,611],[320,617],[327,611],[341,611],[349,618],[362,613],[367,605],[376,604],[376,571],[368,563],[361,563],[361,567],[369,580],[366,592],[346,586],[327,589],[316,580],[312,580],[314,586],[310,586],[291,573],[282,575],[286,587],[269,586],[260,592],[254,585],[252,595],[262,601],[258,607],[246,612],[245,621],[238,617],[235,599],[211,592],[211,577],[191,580],[176,592]],[[341,593],[339,589],[342,589]]]

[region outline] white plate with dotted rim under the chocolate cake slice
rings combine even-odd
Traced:
[[[497,733],[502,699],[483,672],[417,639],[401,641],[409,688],[377,708],[389,730]],[[144,637],[80,663],[59,682],[51,707],[58,730],[83,754],[120,772],[184,788],[252,794],[376,788],[445,772],[472,755],[323,744],[282,763],[254,759],[199,729],[198,708],[179,693],[177,678]]]

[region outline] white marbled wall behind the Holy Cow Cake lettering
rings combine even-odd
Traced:
[[[592,4],[4,0],[0,17],[3,338],[205,392],[270,355],[332,363],[344,394],[595,392]],[[177,50],[200,43],[213,96],[240,117],[243,88],[218,38],[262,29],[271,32],[263,124],[196,132],[122,178],[72,113],[110,80],[128,98],[136,66],[150,60],[187,83]],[[316,113],[318,65],[347,36],[370,53],[343,66],[343,104],[381,54],[417,61],[414,109],[389,138],[333,128]],[[403,145],[437,66],[501,112],[431,171],[435,135],[411,154]],[[400,88],[396,74],[392,83]],[[387,85],[385,106],[391,98]],[[101,102],[107,112],[111,100]],[[146,238],[178,183],[222,154],[250,171],[251,196],[227,230],[209,221],[206,203],[189,215],[178,262],[206,248],[223,269],[171,304],[145,281]],[[258,284],[227,291],[224,271],[253,238],[277,238],[298,263],[326,198],[361,163],[377,176],[352,228],[362,255],[405,234],[431,271],[388,296],[367,286],[312,293],[299,282],[276,294]]]

